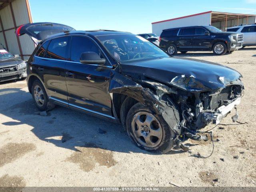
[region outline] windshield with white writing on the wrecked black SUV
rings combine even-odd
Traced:
[[[110,54],[122,63],[170,57],[158,46],[133,34],[97,36]]]

